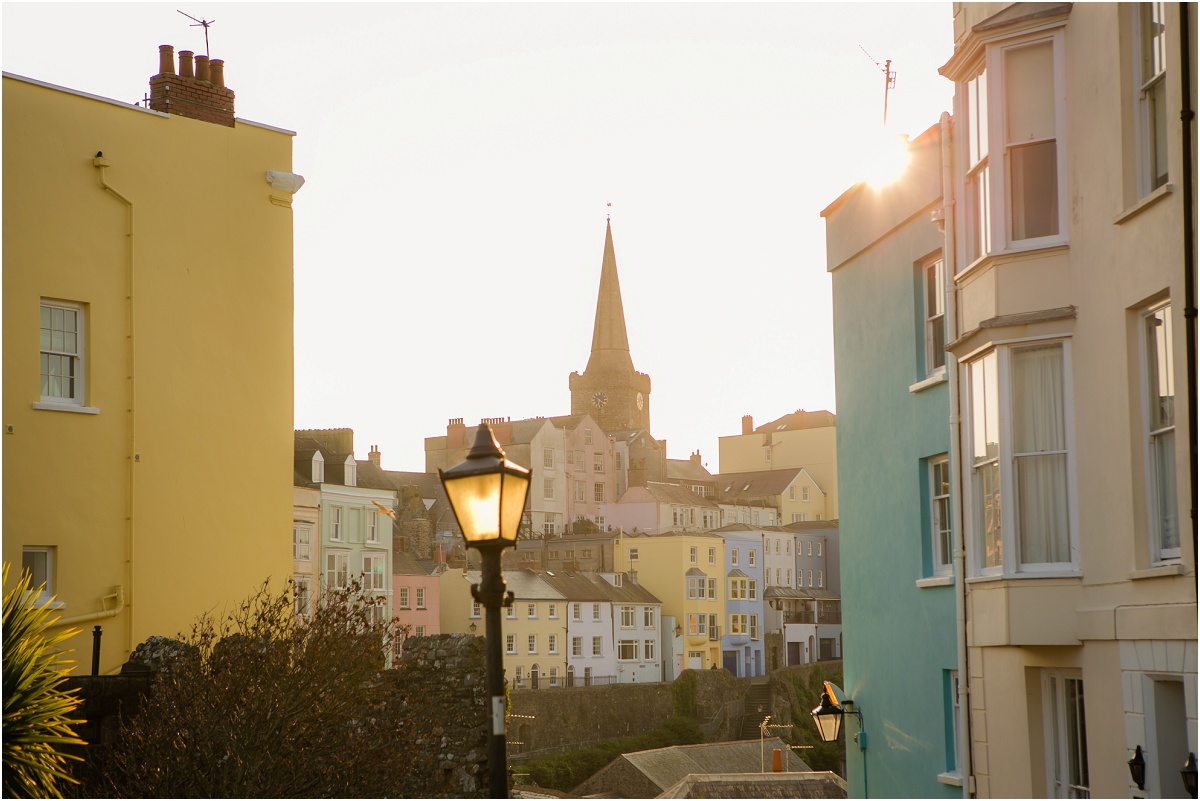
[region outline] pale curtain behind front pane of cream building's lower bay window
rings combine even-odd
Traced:
[[[1062,343],[1012,356],[1013,474],[1021,564],[1070,561]]]

